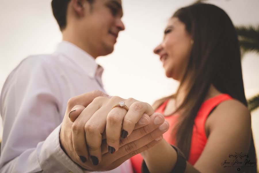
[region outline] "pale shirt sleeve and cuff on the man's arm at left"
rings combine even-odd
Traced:
[[[84,172],[60,148],[62,95],[51,67],[29,57],[3,86],[0,172]]]

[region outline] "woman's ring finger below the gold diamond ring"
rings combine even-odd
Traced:
[[[111,154],[119,149],[121,127],[126,113],[127,111],[120,107],[115,107],[108,113],[106,123],[106,142],[108,145],[108,151]]]

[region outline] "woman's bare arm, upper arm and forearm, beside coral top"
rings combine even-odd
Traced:
[[[230,154],[247,154],[251,139],[251,116],[247,107],[236,100],[222,102],[209,116],[206,146],[194,166],[187,162],[186,173],[229,173],[242,170],[245,159],[229,158]],[[208,121],[208,120],[207,120]],[[150,172],[171,172],[177,155],[165,140],[142,153]],[[234,161],[234,167],[231,166]],[[230,162],[230,164],[228,164]],[[223,164],[222,164],[223,163]]]

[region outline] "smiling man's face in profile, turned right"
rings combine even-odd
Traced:
[[[122,15],[121,0],[95,0],[78,26],[81,42],[87,44],[96,56],[110,54],[119,31],[125,29]]]

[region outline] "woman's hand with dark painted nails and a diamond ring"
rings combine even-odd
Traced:
[[[124,101],[125,105],[128,106],[128,112],[121,107],[112,109],[120,101]],[[89,155],[94,164],[98,164],[102,159],[100,147],[104,131],[106,131],[106,142],[110,153],[114,153],[119,149],[121,134],[124,135],[124,138],[130,135],[144,113],[150,116],[154,110],[149,104],[132,98],[122,99],[116,96],[111,97],[111,99],[107,97],[95,98],[73,123],[72,136],[75,152],[83,154],[86,158]],[[121,133],[121,131],[123,132]],[[86,140],[83,141],[82,138]],[[87,146],[88,152],[86,149],[78,151],[78,148],[84,148],[83,146]]]

